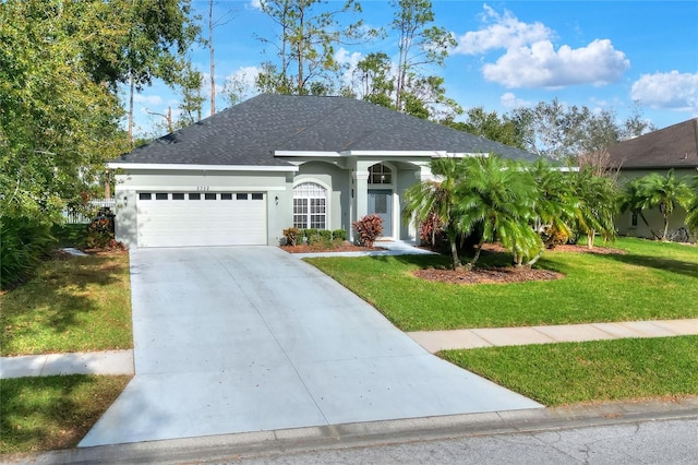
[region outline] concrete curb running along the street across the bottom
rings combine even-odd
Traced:
[[[45,454],[0,456],[0,463],[226,462],[306,451],[693,418],[698,418],[698,396],[670,402],[617,402],[100,445]]]

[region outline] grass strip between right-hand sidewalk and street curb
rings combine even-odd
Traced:
[[[445,350],[546,406],[698,395],[698,336]]]

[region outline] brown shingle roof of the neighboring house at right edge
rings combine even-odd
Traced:
[[[618,142],[609,148],[621,169],[698,167],[698,118]]]

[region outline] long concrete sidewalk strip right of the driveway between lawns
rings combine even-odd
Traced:
[[[698,334],[698,319],[417,331],[407,334],[434,354],[438,350],[478,347],[694,335]]]

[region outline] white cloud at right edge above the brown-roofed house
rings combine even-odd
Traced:
[[[698,73],[642,74],[630,96],[651,108],[698,112]]]

